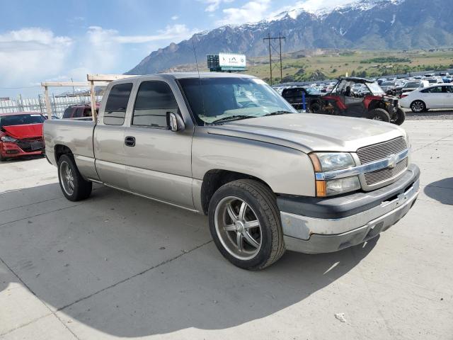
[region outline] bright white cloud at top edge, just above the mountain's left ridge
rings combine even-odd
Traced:
[[[241,23],[251,23],[265,18],[270,8],[270,0],[249,1],[237,8],[225,8],[222,12],[224,18],[217,21],[219,25],[236,25]]]

